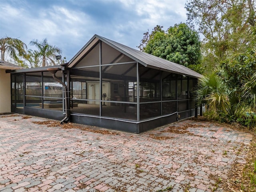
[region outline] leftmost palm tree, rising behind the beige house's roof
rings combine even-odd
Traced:
[[[18,56],[24,55],[27,46],[24,42],[17,38],[8,36],[0,39],[1,60],[5,60],[5,52],[15,61],[20,61]],[[18,54],[17,54],[18,52]]]

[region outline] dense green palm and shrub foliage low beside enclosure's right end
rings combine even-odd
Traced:
[[[195,94],[198,105],[205,103],[212,117],[255,126],[245,112],[256,113],[256,51],[226,60],[217,73],[199,80]]]

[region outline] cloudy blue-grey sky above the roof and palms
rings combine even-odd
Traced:
[[[69,61],[94,34],[131,48],[154,26],[186,22],[186,0],[0,0],[0,38],[47,38]],[[32,46],[28,46],[34,49]]]

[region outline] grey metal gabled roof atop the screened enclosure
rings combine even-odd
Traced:
[[[196,78],[202,77],[201,74],[185,67],[180,64],[170,62],[168,60],[153,56],[151,54],[141,52],[139,50],[130,48],[128,46],[125,46],[123,44],[120,44],[118,42],[112,41],[110,39],[104,38],[99,35],[94,35],[88,43],[70,60],[68,67],[72,67],[76,65],[80,59],[88,52],[90,49],[98,42],[98,40],[101,40],[102,42],[108,44],[109,46],[115,48],[116,50],[120,51],[122,54],[132,58],[133,60],[137,61],[138,63],[149,67],[149,68],[155,68],[159,70],[174,72],[178,74],[184,74],[187,76],[192,76]]]

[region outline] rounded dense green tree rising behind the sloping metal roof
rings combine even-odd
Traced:
[[[201,62],[198,33],[185,23],[175,24],[166,30],[156,26],[149,34],[144,33],[139,48],[146,53],[196,69]]]

